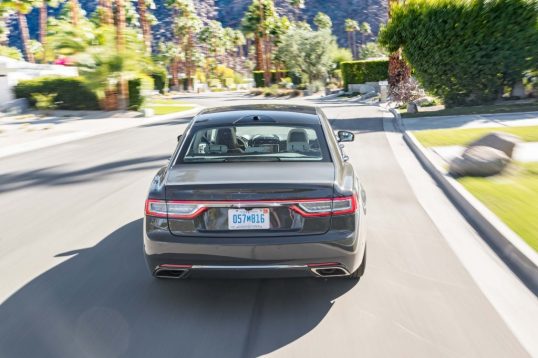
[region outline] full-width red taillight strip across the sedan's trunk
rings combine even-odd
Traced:
[[[303,209],[301,209],[298,205],[293,205],[297,203],[310,203],[310,202],[322,202],[322,201],[344,201],[344,200],[351,200],[351,208],[345,209],[345,210],[339,210],[339,211],[326,211],[326,212],[314,212],[309,213]],[[192,214],[188,215],[182,215],[182,214],[169,214],[169,213],[161,213],[161,212],[154,212],[150,210],[150,203],[152,202],[158,202],[158,203],[166,203],[166,204],[197,204],[200,205],[196,211],[194,211]],[[225,205],[225,204],[292,204],[290,205],[290,209],[297,212],[299,215],[304,217],[323,217],[323,216],[330,216],[330,215],[345,215],[345,214],[352,214],[357,210],[358,202],[357,197],[355,195],[352,196],[346,196],[341,198],[315,198],[315,199],[286,199],[286,200],[218,200],[218,201],[203,201],[203,200],[171,200],[171,201],[164,201],[164,200],[156,200],[156,199],[147,199],[146,200],[146,207],[145,212],[148,216],[155,216],[155,217],[162,217],[162,218],[173,218],[173,219],[194,219],[195,217],[202,214],[204,211],[209,209],[212,206],[217,205]]]

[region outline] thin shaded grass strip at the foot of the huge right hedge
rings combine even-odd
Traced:
[[[456,116],[463,114],[488,114],[488,113],[512,113],[512,112],[533,112],[538,111],[538,102],[526,104],[505,104],[489,106],[455,107],[446,108],[439,111],[425,111],[418,113],[407,113],[405,109],[400,110],[404,118],[432,117],[432,116]]]

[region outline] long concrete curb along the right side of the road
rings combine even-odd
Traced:
[[[407,131],[400,114],[393,108],[389,108],[389,111],[394,117],[394,126],[402,133],[404,141],[422,167],[460,210],[465,219],[478,231],[484,241],[527,288],[538,296],[538,253],[460,183],[445,174],[443,169],[435,163],[431,154],[413,134]]]

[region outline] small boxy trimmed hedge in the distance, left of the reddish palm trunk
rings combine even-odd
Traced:
[[[340,68],[346,91],[349,84],[384,81],[389,77],[388,60],[342,62]]]

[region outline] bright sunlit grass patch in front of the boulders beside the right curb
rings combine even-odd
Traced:
[[[458,181],[538,251],[538,162],[513,173]]]

